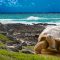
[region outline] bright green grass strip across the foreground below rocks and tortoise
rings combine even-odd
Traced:
[[[60,60],[60,57],[0,50],[0,60]]]

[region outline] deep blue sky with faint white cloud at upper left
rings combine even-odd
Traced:
[[[60,0],[0,0],[0,13],[60,12]]]

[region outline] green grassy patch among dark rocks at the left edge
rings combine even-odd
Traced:
[[[3,34],[0,34],[0,49],[5,49],[6,48],[6,43],[7,42],[12,42],[13,40],[10,40],[8,37],[6,37]]]

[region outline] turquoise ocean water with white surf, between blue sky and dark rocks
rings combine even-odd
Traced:
[[[60,25],[60,14],[0,14],[0,22],[6,23],[53,23]]]

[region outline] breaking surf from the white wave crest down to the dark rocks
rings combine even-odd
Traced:
[[[29,16],[27,18],[22,19],[0,19],[0,22],[3,24],[7,23],[24,23],[24,24],[32,24],[32,23],[56,23],[60,24],[60,18],[45,18],[45,17],[36,17]]]

